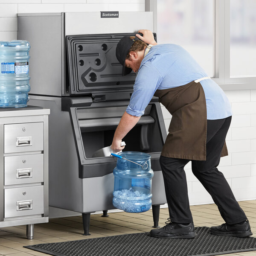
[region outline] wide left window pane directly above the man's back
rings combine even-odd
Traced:
[[[213,76],[213,3],[157,0],[157,42],[179,44]]]

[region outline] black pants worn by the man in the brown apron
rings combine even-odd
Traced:
[[[207,120],[206,160],[192,160],[192,172],[212,196],[221,217],[227,224],[236,224],[247,219],[237,203],[224,175],[218,171],[221,150],[230,127],[231,116]],[[160,157],[170,219],[177,223],[193,222],[189,209],[188,189],[184,166],[190,160]]]

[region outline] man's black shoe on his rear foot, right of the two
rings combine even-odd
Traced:
[[[219,236],[238,236],[246,237],[251,236],[253,233],[250,230],[249,221],[243,221],[239,224],[228,225],[224,223],[217,227],[211,227],[210,233]]]

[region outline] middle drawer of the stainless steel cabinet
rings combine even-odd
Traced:
[[[44,181],[44,154],[4,157],[4,184]]]

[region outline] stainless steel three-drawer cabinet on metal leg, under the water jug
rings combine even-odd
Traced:
[[[0,228],[48,222],[49,109],[0,109]]]

